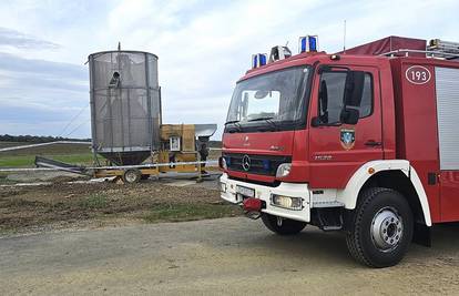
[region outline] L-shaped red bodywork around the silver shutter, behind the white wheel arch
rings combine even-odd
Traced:
[[[416,169],[429,200],[432,222],[458,221],[459,174],[457,171],[440,171],[435,68],[459,69],[459,63],[426,58],[397,58],[390,62],[395,85],[397,159],[409,160]],[[410,83],[406,78],[407,71],[419,65],[430,72],[430,79],[425,84]],[[437,176],[435,184],[429,184],[429,173]]]

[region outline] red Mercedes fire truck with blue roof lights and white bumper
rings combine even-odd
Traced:
[[[221,196],[280,235],[344,231],[396,265],[459,221],[459,44],[389,37],[345,52],[300,38],[255,54],[223,135]]]

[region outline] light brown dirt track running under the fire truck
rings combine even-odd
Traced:
[[[244,217],[10,237],[0,294],[457,295],[458,232],[437,227],[387,269],[357,265],[340,234],[279,237]]]

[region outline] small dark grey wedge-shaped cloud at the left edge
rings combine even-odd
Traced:
[[[60,45],[41,40],[22,32],[0,27],[0,47],[13,47],[18,49],[59,49]]]

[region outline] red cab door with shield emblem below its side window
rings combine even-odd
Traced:
[[[316,72],[309,109],[309,185],[344,188],[364,163],[384,157],[379,72],[351,65],[323,65]],[[356,118],[349,120],[347,113]]]

